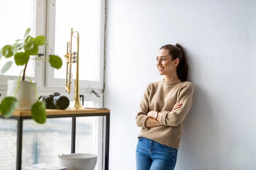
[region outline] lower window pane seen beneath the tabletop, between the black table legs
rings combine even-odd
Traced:
[[[71,152],[72,118],[47,119],[43,125],[24,120],[22,166],[56,164],[60,153]]]

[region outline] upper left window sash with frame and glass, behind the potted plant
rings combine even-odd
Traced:
[[[38,27],[38,23],[42,21],[40,12],[41,7],[39,6],[36,10],[37,6],[35,0],[0,1],[0,6],[0,15],[2,16],[1,22],[4,23],[4,26],[0,28],[0,48],[6,44],[13,44],[17,39],[22,39],[27,28],[31,28],[32,36],[40,34],[41,28]],[[12,6],[12,8],[10,8],[10,6]],[[0,68],[2,68],[9,60],[13,60],[14,62],[14,57],[11,59],[2,57]],[[13,64],[9,71],[0,75],[0,85],[7,85],[8,79],[17,79],[17,76],[19,76],[20,71],[23,68],[24,66]],[[38,75],[39,70],[41,70],[41,64],[35,66],[35,60],[30,60],[26,74],[35,80],[35,75]],[[37,83],[38,86],[41,86],[41,79],[37,79]]]

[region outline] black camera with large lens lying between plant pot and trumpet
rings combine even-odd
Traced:
[[[46,103],[47,109],[64,110],[70,105],[70,100],[59,93],[52,93],[49,96],[42,96],[42,101]]]

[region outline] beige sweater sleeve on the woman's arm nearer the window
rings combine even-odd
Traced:
[[[149,111],[148,98],[151,91],[151,86],[148,84],[146,90],[144,91],[143,97],[140,101],[139,111],[136,115],[136,124],[138,127],[146,127],[146,119],[148,119],[147,113]]]

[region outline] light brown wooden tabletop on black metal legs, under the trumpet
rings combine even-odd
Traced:
[[[110,113],[109,109],[84,109],[84,110],[57,110],[47,109],[47,115],[71,115],[71,114],[91,114],[91,113]],[[1,113],[0,113],[1,114]],[[31,116],[30,111],[14,111],[12,116]]]

